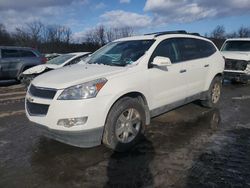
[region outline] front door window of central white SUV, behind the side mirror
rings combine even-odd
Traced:
[[[150,57],[149,62],[153,62],[156,56],[168,57],[172,63],[179,62],[180,57],[176,45],[176,40],[167,39],[158,44],[152,56]]]

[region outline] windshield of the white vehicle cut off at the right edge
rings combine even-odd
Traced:
[[[250,51],[250,41],[227,41],[221,51]]]

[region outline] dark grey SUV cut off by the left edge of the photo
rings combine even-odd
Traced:
[[[0,46],[0,79],[18,80],[23,71],[44,63],[46,58],[35,49]]]

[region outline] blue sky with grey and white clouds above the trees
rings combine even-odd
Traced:
[[[250,0],[0,0],[7,29],[32,21],[69,26],[75,37],[99,24],[201,34],[222,24],[230,32],[250,26]]]

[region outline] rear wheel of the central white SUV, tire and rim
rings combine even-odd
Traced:
[[[220,101],[221,88],[222,88],[222,80],[221,77],[217,76],[213,79],[212,83],[210,84],[206,99],[201,101],[202,106],[207,108],[216,107]]]

